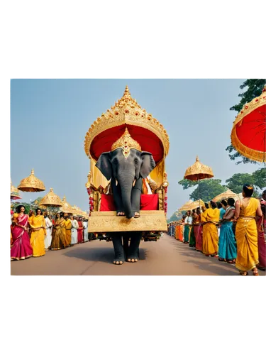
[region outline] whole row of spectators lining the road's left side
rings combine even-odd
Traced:
[[[20,204],[9,211],[9,260],[44,256],[45,251],[65,249],[92,240],[88,219],[58,212],[53,217],[40,208],[25,213]]]

